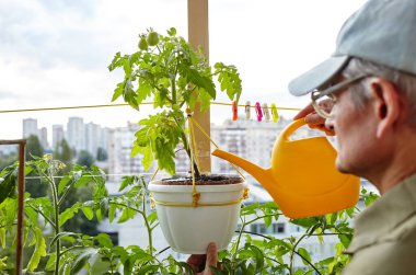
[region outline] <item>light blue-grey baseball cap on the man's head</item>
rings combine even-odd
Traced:
[[[335,53],[290,81],[289,92],[325,88],[351,57],[416,75],[416,0],[368,1],[344,23]]]

